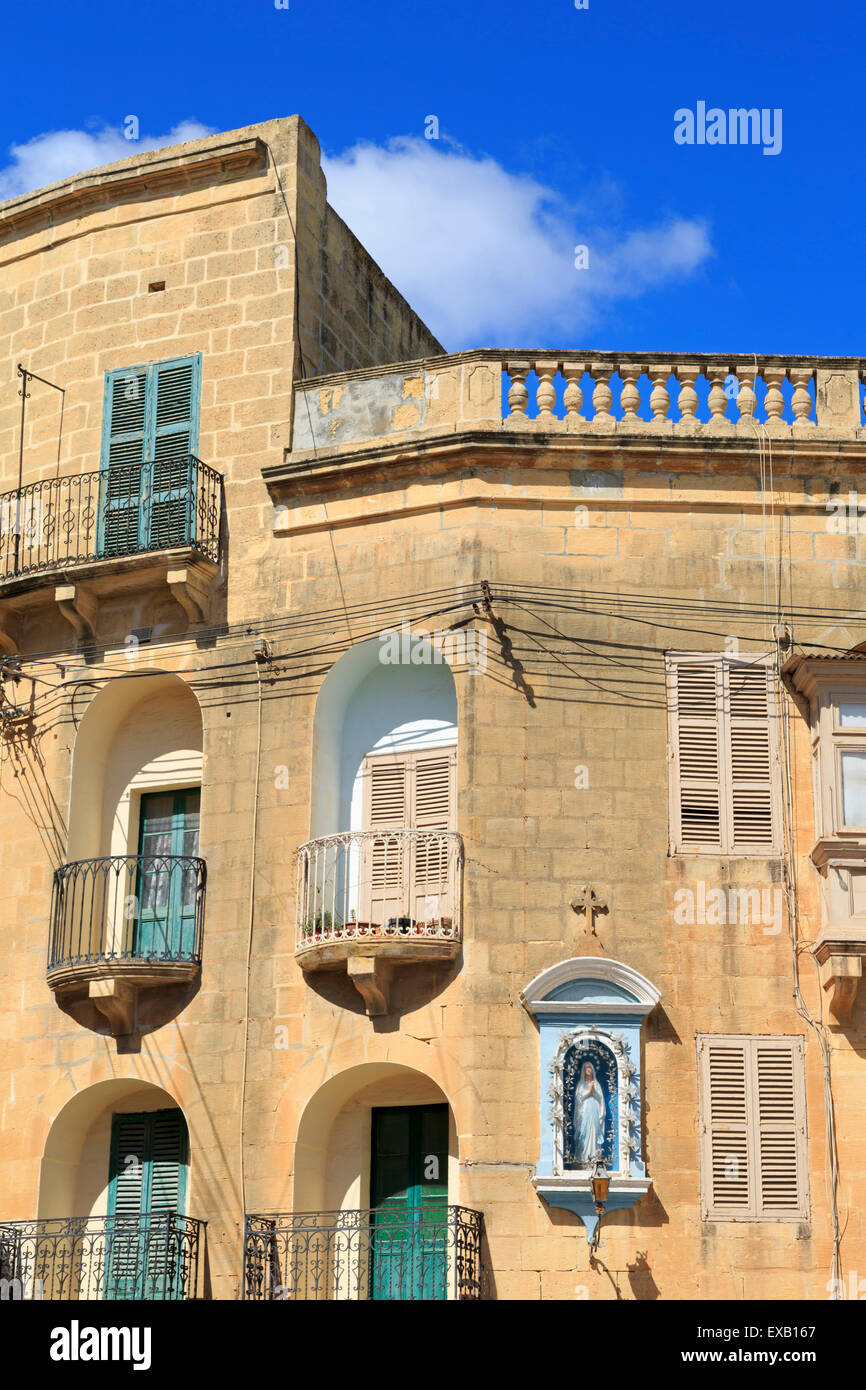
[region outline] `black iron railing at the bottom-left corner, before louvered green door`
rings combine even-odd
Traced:
[[[206,1226],[175,1212],[0,1222],[0,1298],[196,1298]]]

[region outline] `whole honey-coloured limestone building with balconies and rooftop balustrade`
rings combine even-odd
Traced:
[[[449,354],[296,117],[0,206],[0,361],[14,1295],[847,1295],[866,363]]]

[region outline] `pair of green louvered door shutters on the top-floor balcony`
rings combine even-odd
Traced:
[[[202,356],[106,374],[97,555],[189,545]]]

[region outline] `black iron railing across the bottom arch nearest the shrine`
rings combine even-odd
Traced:
[[[247,1216],[243,1297],[478,1300],[481,1212],[443,1205]]]

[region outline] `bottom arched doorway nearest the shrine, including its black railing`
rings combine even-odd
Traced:
[[[299,1123],[295,1211],[247,1218],[247,1297],[473,1298],[480,1259],[441,1087],[396,1062],[324,1081]]]

